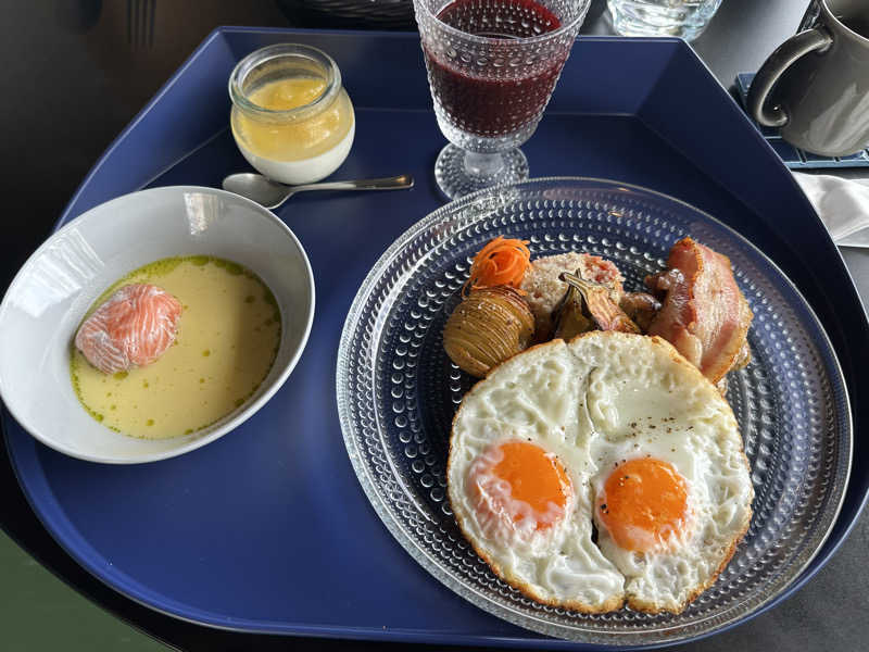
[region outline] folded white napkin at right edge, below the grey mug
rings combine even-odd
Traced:
[[[869,179],[793,173],[840,247],[869,247]]]

